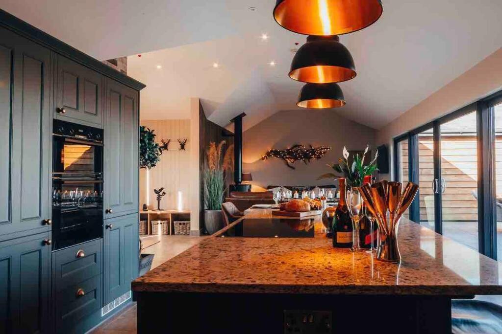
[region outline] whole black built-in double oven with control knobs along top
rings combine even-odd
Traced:
[[[54,120],[53,250],[103,236],[103,130]]]

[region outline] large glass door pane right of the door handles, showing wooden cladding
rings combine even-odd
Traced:
[[[443,235],[478,250],[476,112],[441,124]]]

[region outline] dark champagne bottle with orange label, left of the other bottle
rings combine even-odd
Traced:
[[[338,179],[340,199],[333,217],[333,247],[352,247],[352,220],[345,203],[345,179]]]

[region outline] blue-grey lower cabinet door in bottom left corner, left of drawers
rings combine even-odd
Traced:
[[[49,233],[0,243],[0,333],[47,332]]]

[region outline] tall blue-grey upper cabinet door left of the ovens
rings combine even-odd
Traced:
[[[0,28],[0,240],[49,229],[51,59]]]

